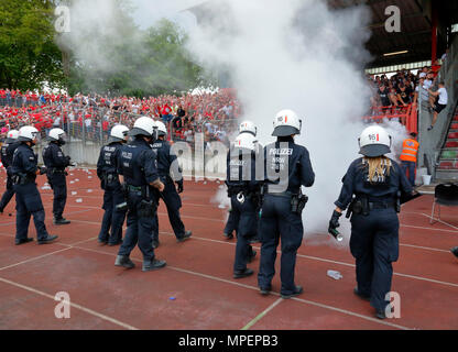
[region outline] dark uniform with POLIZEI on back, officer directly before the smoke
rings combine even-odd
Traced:
[[[292,136],[279,136],[275,143],[265,146],[264,157],[266,184],[259,230],[262,245],[258,285],[261,292],[271,290],[272,277],[275,274],[276,246],[282,239],[281,294],[286,298],[297,294],[294,268],[297,249],[301,246],[304,234],[302,211],[294,209],[295,212],[293,212],[292,202],[297,200],[301,186],[310,187],[314,184],[315,174],[307,148],[295,144]],[[274,184],[274,180],[269,179],[269,175],[281,170],[286,160],[287,189],[283,193],[274,193],[272,188],[269,188]]]

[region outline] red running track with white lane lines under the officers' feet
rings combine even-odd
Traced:
[[[156,256],[167,261],[166,268],[142,273],[138,249],[134,270],[116,267],[118,248],[97,243],[103,213],[97,176],[70,173],[65,216],[72,224],[52,224],[52,194],[41,189],[48,231],[59,235],[55,243],[15,246],[14,200],[0,216],[0,329],[458,329],[458,261],[449,252],[458,245],[458,215],[443,208],[443,222],[429,224],[432,196],[403,207],[392,285],[401,296],[401,318],[379,320],[352,293],[348,248],[323,234],[306,234],[298,251],[301,296],[280,298],[279,275],[268,297],[259,295],[255,275],[233,279],[235,240],[221,234],[226,210],[210,202],[219,186],[214,182],[185,183],[182,215],[193,238],[184,243],[176,243],[160,207]],[[249,266],[257,273],[259,258]],[[334,280],[327,270],[344,278]],[[69,319],[55,318],[58,292],[69,294]]]

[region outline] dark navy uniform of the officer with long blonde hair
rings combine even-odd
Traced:
[[[391,289],[392,262],[399,256],[397,193],[410,195],[412,186],[399,164],[384,175],[369,180],[366,158],[351,163],[342,179],[337,207],[345,210],[351,202],[350,251],[357,262],[357,294],[369,298],[371,305],[383,310],[389,301],[385,295]],[[352,200],[352,196],[356,195]]]

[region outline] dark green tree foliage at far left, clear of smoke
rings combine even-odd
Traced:
[[[54,41],[54,2],[0,0],[0,87],[62,86],[62,53]]]

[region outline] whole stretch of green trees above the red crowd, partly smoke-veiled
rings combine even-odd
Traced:
[[[141,97],[212,82],[187,53],[187,35],[178,25],[161,20],[141,30],[130,16],[128,0],[110,2],[109,25],[98,14],[88,20],[87,12],[77,13],[70,33],[56,33],[55,7],[73,10],[77,3],[0,0],[0,87],[40,89],[46,82],[72,95]]]

